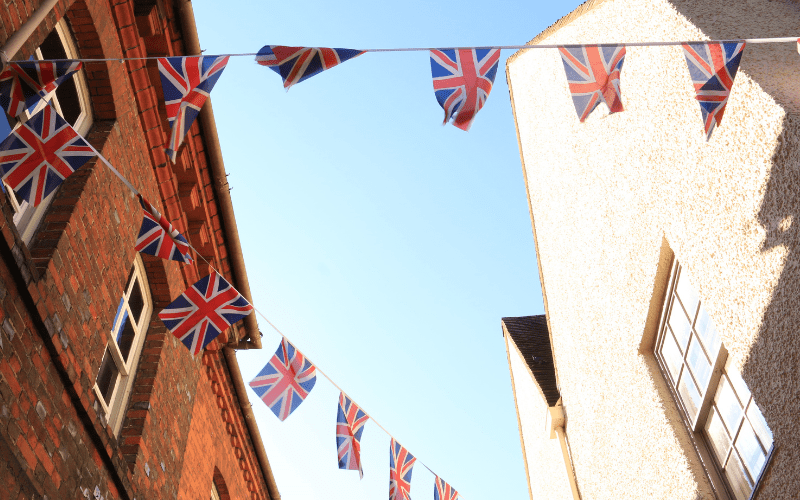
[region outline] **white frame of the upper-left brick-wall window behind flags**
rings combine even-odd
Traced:
[[[61,45],[64,47],[64,52],[67,54],[67,58],[77,59],[79,57],[78,48],[66,21],[61,19],[58,23],[56,23],[54,30],[58,34]],[[37,60],[42,60],[44,58],[40,48],[36,48],[34,57]],[[72,78],[75,81],[75,89],[77,90],[78,103],[81,109],[81,113],[78,115],[78,118],[72,128],[74,128],[80,135],[85,136],[92,127],[92,123],[94,121],[91,111],[92,108],[89,96],[89,86],[86,83],[86,75],[84,74],[83,70],[76,72],[74,75],[72,75]],[[26,109],[23,111],[23,114],[19,117],[20,121],[13,127],[13,129],[19,127],[22,122],[25,122],[31,116],[41,111],[42,108],[48,104],[52,105],[58,114],[62,113],[61,105],[58,102],[56,91],[54,90],[47,94],[44,99],[41,99],[33,108],[33,110],[29,111]],[[13,190],[7,184],[4,187],[6,189],[7,198],[11,203],[11,207],[14,209],[14,225],[17,226],[17,230],[19,231],[20,237],[22,237],[22,241],[25,242],[26,245],[30,244],[36,229],[42,222],[42,218],[47,212],[47,208],[50,206],[50,203],[52,203],[53,198],[58,190],[50,193],[50,195],[43,199],[42,202],[36,207],[31,207],[27,201],[23,201],[21,204],[18,203],[17,197],[14,195]]]

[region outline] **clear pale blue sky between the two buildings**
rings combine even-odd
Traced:
[[[524,44],[580,2],[195,0],[205,54],[263,45]],[[427,52],[367,53],[284,91],[250,57],[212,92],[254,305],[465,500],[528,498],[500,320],[543,314],[504,51],[466,133],[442,126]],[[245,381],[280,343],[240,351]],[[249,389],[248,389],[249,390]],[[339,389],[285,421],[250,392],[285,500],[388,498],[389,436],[337,466]],[[424,464],[424,465],[423,465]]]

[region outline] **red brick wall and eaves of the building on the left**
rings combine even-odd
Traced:
[[[0,44],[39,4],[3,4]],[[185,0],[60,0],[9,56],[27,59],[61,20],[85,58],[199,53]],[[155,61],[87,63],[84,73],[88,140],[249,298],[213,114],[172,165]],[[157,317],[207,266],[141,256],[153,313],[115,435],[93,386],[137,259],[136,198],[91,161],[59,188],[29,244],[4,195],[0,208],[0,497],[194,500],[209,498],[213,481],[223,499],[277,500],[231,350],[260,348],[254,319],[193,358]]]

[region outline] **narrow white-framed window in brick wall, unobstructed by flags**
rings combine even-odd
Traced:
[[[142,261],[137,256],[119,301],[94,384],[98,401],[114,434],[119,432],[122,425],[152,311],[147,278]]]

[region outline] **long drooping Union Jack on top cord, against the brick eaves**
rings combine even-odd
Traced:
[[[178,148],[192,126],[230,56],[162,57],[161,88],[170,124],[167,156],[175,162]]]

